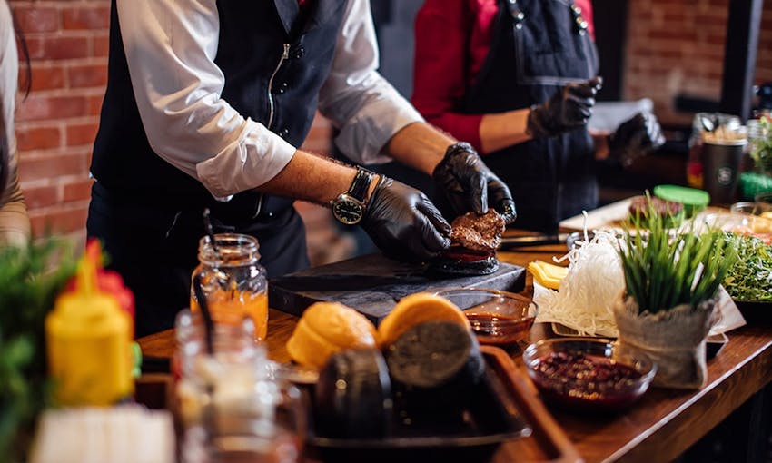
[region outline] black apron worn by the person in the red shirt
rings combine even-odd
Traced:
[[[595,76],[598,56],[568,0],[500,0],[490,53],[461,112],[502,113],[547,101]],[[560,220],[598,203],[595,152],[585,129],[530,140],[484,158],[510,186],[514,226],[554,232]]]

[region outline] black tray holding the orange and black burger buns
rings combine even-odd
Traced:
[[[411,417],[411,425],[406,425],[395,418],[387,437],[357,439],[321,436],[310,417],[307,452],[331,463],[489,461],[502,442],[530,436],[531,428],[520,414],[517,391],[506,387],[491,368],[490,356],[486,360],[483,381],[470,394],[468,406],[457,414],[462,419],[422,414]]]

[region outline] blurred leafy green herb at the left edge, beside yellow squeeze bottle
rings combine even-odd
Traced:
[[[25,459],[49,403],[45,315],[74,268],[66,242],[53,238],[0,249],[0,462]]]

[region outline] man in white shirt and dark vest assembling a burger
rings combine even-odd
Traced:
[[[470,146],[377,73],[367,0],[113,0],[111,23],[88,232],[134,291],[138,336],[186,304],[205,207],[215,232],[258,238],[269,275],[308,263],[293,200],[332,206],[399,259],[448,247],[423,193],[296,148],[317,109],[349,158],[398,160],[433,175],[458,212],[490,204],[514,220]]]

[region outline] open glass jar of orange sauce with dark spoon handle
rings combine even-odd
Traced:
[[[254,323],[254,336],[265,340],[268,332],[268,280],[258,263],[257,239],[238,233],[218,233],[199,241],[199,265],[193,281],[200,279],[215,323],[238,324],[244,317]],[[199,310],[191,288],[191,310]]]

